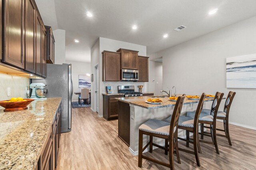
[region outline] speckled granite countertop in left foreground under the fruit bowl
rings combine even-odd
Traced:
[[[0,109],[0,169],[35,169],[61,98],[34,101],[28,109]]]

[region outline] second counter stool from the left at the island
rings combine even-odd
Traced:
[[[199,155],[198,152],[201,153],[201,147],[199,143],[199,137],[198,137],[198,121],[199,121],[199,116],[200,113],[203,109],[204,105],[204,98],[206,94],[203,93],[202,96],[200,97],[196,112],[195,112],[195,117],[186,117],[186,116],[181,116],[178,121],[178,129],[186,130],[186,139],[178,137],[178,139],[182,141],[186,141],[186,147],[189,147],[189,143],[192,143],[194,145],[194,152],[191,150],[179,148],[180,151],[187,152],[190,154],[194,154],[196,157],[196,164],[197,166],[200,166],[200,161],[199,161]],[[168,117],[165,121],[170,122],[171,117]],[[190,139],[190,132],[193,133],[193,139]]]

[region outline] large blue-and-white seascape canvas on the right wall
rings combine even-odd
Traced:
[[[256,88],[256,54],[226,59],[227,88]]]

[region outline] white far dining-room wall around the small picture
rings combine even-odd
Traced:
[[[73,91],[81,92],[81,88],[78,88],[78,75],[91,74],[91,63],[66,61],[67,64],[71,64],[71,76],[73,82]],[[78,101],[78,95],[73,94],[72,101]]]

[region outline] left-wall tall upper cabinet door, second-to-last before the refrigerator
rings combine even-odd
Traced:
[[[42,22],[36,12],[36,74],[42,76]]]

